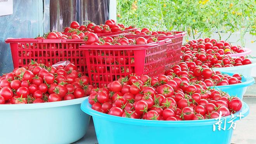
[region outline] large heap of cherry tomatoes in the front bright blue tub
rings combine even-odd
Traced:
[[[93,89],[92,109],[118,117],[146,120],[202,120],[228,116],[242,108],[239,98],[180,77],[130,76]]]

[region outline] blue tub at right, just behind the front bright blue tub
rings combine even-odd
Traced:
[[[223,74],[234,75],[236,72],[221,72]],[[235,96],[243,99],[244,94],[246,93],[247,87],[254,84],[254,78],[248,75],[242,75],[242,83],[239,84],[230,84],[227,86],[214,86],[211,88],[218,89],[224,92],[227,92],[230,96]]]

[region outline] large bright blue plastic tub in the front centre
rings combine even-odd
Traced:
[[[81,109],[92,116],[99,144],[230,144],[233,132],[227,130],[231,115],[221,118],[227,120],[226,130],[216,128],[214,132],[213,125],[218,122],[215,119],[154,121],[116,117],[92,110],[88,99],[83,101]],[[239,113],[246,117],[249,106],[243,102],[242,110],[234,116]]]

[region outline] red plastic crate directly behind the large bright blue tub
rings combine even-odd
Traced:
[[[144,45],[81,45],[90,83],[103,87],[126,75],[164,74],[168,39]]]

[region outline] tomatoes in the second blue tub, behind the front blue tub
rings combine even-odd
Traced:
[[[203,87],[225,86],[242,82],[242,75],[240,74],[222,74],[206,65],[197,66],[195,62],[181,62],[167,70],[165,74],[180,77],[183,84],[200,84]]]

